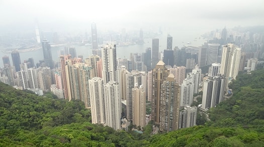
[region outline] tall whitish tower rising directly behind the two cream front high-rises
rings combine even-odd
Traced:
[[[102,67],[104,83],[117,81],[116,44],[106,44],[102,47]]]

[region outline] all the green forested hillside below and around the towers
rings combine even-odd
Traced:
[[[264,69],[240,73],[233,96],[212,108],[204,126],[150,136],[91,123],[80,101],[0,83],[0,146],[264,146]]]

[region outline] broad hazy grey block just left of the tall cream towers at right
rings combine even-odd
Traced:
[[[216,44],[208,43],[207,65],[211,65],[212,63],[217,62],[219,46],[220,44],[217,43]]]

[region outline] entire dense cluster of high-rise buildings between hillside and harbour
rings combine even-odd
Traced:
[[[52,91],[58,98],[69,101],[79,99],[91,109],[92,123],[116,130],[127,130],[130,123],[145,126],[146,101],[151,103],[149,117],[160,131],[190,127],[196,125],[198,110],[191,106],[194,94],[203,91],[200,109],[214,107],[230,93],[228,83],[245,68],[248,57],[243,52],[244,46],[226,43],[225,31],[224,28],[219,37],[222,42],[181,49],[172,48],[172,36],[168,34],[167,47],[162,52],[159,39],[153,38],[151,48],[143,53],[130,53],[128,59],[117,57],[113,42],[98,47],[93,23],[93,55],[83,59],[76,55],[75,48],[65,47],[55,64],[50,43],[43,39],[43,60],[36,65],[33,58],[21,63],[19,52],[13,51],[13,66],[9,56],[3,57],[5,66],[1,68],[0,80],[20,89]],[[241,43],[243,39],[239,40]],[[254,70],[256,64],[257,57],[249,58],[247,69]],[[205,65],[210,65],[207,74],[200,68]]]

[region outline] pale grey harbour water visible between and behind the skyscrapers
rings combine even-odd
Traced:
[[[179,46],[181,48],[184,45],[190,46],[201,46],[206,41],[201,35],[205,31],[175,31],[174,33],[170,33],[173,37],[173,44],[172,46]],[[166,37],[167,34],[161,34],[156,36],[159,38],[159,51],[162,51],[166,48]],[[144,38],[143,44],[135,44],[129,46],[117,46],[117,57],[121,58],[129,58],[130,52],[133,53],[141,53],[145,52],[145,48],[152,46],[152,38]],[[189,42],[189,44],[187,43]],[[70,45],[69,47],[75,47],[77,55],[82,54],[83,58],[87,58],[92,55],[92,48],[91,46],[79,46],[79,45]],[[64,46],[56,46],[51,47],[52,58],[54,61],[59,61],[59,50],[64,49]],[[1,60],[0,60],[0,67],[3,67],[3,60],[2,57],[4,55],[8,55],[10,58],[10,62],[12,63],[11,53],[4,53],[0,51]],[[40,60],[43,59],[43,51],[42,49],[34,50],[34,51],[27,51],[27,52],[20,52],[21,62],[28,59],[29,57],[34,58],[35,64]]]

